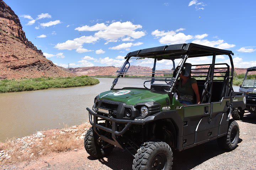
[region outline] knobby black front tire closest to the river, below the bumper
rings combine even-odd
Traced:
[[[97,139],[97,141],[95,140]],[[87,153],[94,158],[103,158],[111,153],[114,146],[111,145],[107,148],[103,148],[103,141],[101,141],[100,137],[94,133],[93,128],[91,127],[84,138],[84,147]],[[106,144],[106,142],[105,142]]]

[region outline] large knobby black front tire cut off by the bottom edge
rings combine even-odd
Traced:
[[[171,170],[173,154],[165,142],[145,142],[133,160],[133,170]]]

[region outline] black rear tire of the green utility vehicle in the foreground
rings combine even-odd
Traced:
[[[220,148],[232,151],[238,145],[239,140],[239,125],[236,121],[231,120],[229,123],[228,134],[218,138],[218,145]]]

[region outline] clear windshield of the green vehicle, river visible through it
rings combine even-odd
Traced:
[[[114,89],[138,87],[167,92],[174,79],[174,69],[172,60],[131,57],[118,69],[119,77],[114,80],[113,86]]]

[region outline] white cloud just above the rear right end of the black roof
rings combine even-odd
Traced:
[[[226,42],[224,43],[224,40],[208,41],[208,40],[196,39],[192,41],[192,43],[215,47],[219,49],[229,49],[235,46],[234,44],[228,44]]]

